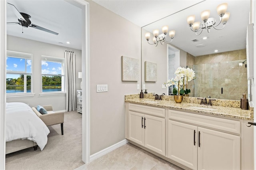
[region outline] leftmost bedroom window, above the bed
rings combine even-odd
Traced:
[[[7,51],[6,93],[32,93],[32,54]]]

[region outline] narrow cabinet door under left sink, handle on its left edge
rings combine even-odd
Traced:
[[[165,119],[145,116],[145,147],[165,156]]]

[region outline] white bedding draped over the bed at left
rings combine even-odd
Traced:
[[[6,103],[6,142],[28,139],[37,143],[41,150],[47,143],[50,130],[25,103]]]

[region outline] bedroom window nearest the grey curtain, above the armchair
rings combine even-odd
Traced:
[[[64,59],[42,55],[42,92],[65,92]]]

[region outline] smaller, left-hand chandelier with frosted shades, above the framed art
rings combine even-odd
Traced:
[[[146,40],[148,41],[149,44],[153,45],[155,44],[155,46],[158,45],[158,43],[160,42],[162,45],[165,43],[170,43],[172,42],[173,38],[174,38],[174,35],[175,35],[175,31],[174,30],[170,30],[169,31],[169,36],[171,38],[170,42],[167,42],[166,41],[166,34],[168,33],[168,26],[163,26],[162,27],[162,34],[159,35],[159,30],[156,29],[156,30],[153,30],[153,35],[154,35],[154,38],[153,38],[153,42],[154,43],[150,43],[149,42],[149,39],[150,39],[150,32],[147,32],[145,34],[145,38]]]

